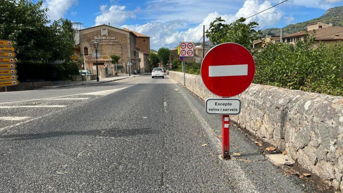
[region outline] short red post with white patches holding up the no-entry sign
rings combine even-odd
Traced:
[[[230,159],[230,116],[222,115],[222,156]]]

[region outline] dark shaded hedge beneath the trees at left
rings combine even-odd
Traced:
[[[79,75],[79,67],[73,62],[63,64],[18,63],[18,80],[71,80],[71,76]]]

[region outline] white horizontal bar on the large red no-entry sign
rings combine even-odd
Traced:
[[[209,77],[220,76],[247,76],[248,65],[224,65],[224,66],[209,66]]]

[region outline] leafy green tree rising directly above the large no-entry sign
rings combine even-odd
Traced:
[[[252,42],[260,39],[262,36],[261,30],[254,30],[258,26],[257,22],[245,24],[245,18],[240,18],[235,22],[226,24],[221,17],[216,18],[210,23],[210,28],[206,31],[206,37],[214,45],[225,42],[233,42],[240,44],[247,49],[250,49]]]

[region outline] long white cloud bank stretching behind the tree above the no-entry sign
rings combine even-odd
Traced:
[[[239,9],[236,14],[221,15],[218,12],[209,13],[202,19],[200,24],[195,27],[190,27],[187,30],[179,29],[182,29],[191,23],[188,19],[172,21],[158,20],[144,25],[124,25],[123,27],[151,36],[150,41],[152,49],[158,49],[162,46],[173,48],[180,41],[199,42],[202,36],[203,25],[205,25],[205,29],[207,30],[210,23],[219,16],[221,16],[227,23],[231,23],[240,17],[251,16],[271,6],[272,5],[269,1],[264,1],[260,4],[258,0],[246,0],[243,7]],[[262,28],[278,23],[281,20],[282,15],[283,13],[279,9],[272,8],[268,11],[262,12],[261,14],[253,16],[248,19],[247,22],[257,21],[260,24],[259,28]]]

